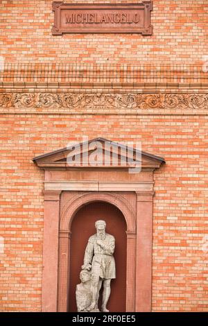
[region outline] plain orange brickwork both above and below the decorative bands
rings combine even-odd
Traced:
[[[0,54],[6,62],[58,59],[196,65],[207,54],[207,0],[154,0],[153,35],[148,37],[55,37],[51,35],[51,0],[0,1]],[[152,114],[129,114],[128,110],[122,115],[41,115],[40,110],[17,114],[16,109],[12,114],[10,108],[9,114],[4,110],[0,117],[0,236],[5,240],[5,251],[0,254],[0,310],[41,310],[44,173],[32,158],[88,135],[89,139],[142,140],[144,151],[165,158],[166,165],[155,171],[153,311],[208,311],[207,253],[202,250],[207,232],[205,111],[198,114],[196,109],[195,115],[166,114],[165,110],[158,114],[157,110]]]

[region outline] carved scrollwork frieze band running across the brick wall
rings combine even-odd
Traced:
[[[208,94],[1,93],[0,108],[208,108]]]

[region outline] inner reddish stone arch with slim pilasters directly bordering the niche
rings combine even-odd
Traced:
[[[70,248],[71,248],[71,223],[74,216],[81,207],[89,203],[103,202],[110,203],[117,207],[123,214],[127,225],[126,230],[126,300],[125,310],[135,311],[135,255],[136,255],[136,221],[135,214],[128,203],[128,200],[121,194],[107,193],[77,193],[71,194],[71,200],[65,200],[61,212],[60,232],[59,232],[59,258],[58,258],[58,311],[67,311],[69,305],[69,279],[70,279]]]

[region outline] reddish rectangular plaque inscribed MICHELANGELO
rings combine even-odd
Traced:
[[[152,1],[130,4],[53,2],[53,35],[62,33],[141,33],[151,35]]]

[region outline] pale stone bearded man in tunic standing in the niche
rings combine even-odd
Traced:
[[[84,264],[82,266],[83,271],[87,271],[88,273],[89,271],[91,272],[91,284],[90,286],[85,286],[86,291],[89,293],[88,298],[91,300],[91,303],[87,309],[85,309],[87,311],[99,311],[98,298],[103,283],[102,311],[108,312],[106,306],[110,298],[110,282],[112,279],[116,278],[116,268],[113,257],[115,239],[111,234],[105,233],[105,221],[96,221],[95,226],[96,234],[89,237],[85,250]],[[80,306],[79,303],[78,306]]]

